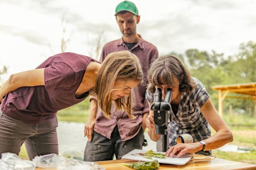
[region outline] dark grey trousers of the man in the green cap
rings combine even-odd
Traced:
[[[142,149],[144,144],[144,131],[141,128],[139,133],[127,141],[122,141],[118,126],[114,128],[111,139],[93,131],[92,141],[87,142],[85,147],[84,161],[106,161],[123,156],[135,149]]]

